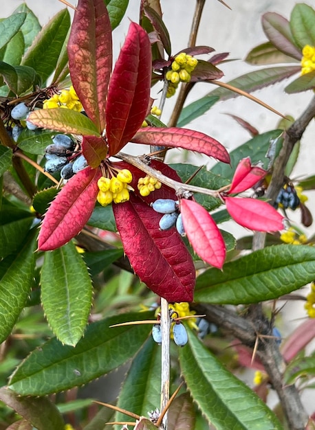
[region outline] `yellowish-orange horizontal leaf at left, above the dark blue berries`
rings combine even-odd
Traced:
[[[80,112],[72,109],[39,109],[28,115],[28,121],[38,127],[50,130],[72,133],[74,135],[99,136],[96,126],[91,120]]]

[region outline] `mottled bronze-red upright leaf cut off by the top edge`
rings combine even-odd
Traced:
[[[100,133],[112,67],[111,23],[104,0],[79,0],[67,45],[74,89]]]

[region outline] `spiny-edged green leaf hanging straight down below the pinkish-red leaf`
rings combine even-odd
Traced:
[[[91,310],[92,285],[87,266],[73,242],[46,252],[41,271],[41,301],[58,339],[76,346]]]

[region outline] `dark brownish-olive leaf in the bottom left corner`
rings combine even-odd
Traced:
[[[38,430],[61,430],[65,422],[56,405],[47,397],[21,397],[6,387],[0,388],[0,400],[12,407]]]

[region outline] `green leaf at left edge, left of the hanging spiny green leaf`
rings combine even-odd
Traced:
[[[33,229],[23,247],[0,262],[0,342],[6,340],[25,306],[33,281],[35,262]]]

